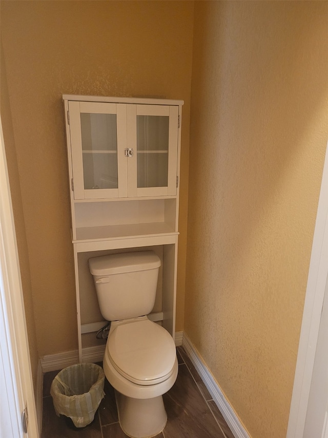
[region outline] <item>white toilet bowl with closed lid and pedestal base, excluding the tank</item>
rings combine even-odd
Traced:
[[[172,388],[178,374],[174,341],[147,316],[112,324],[104,371],[115,389],[121,429],[133,438],[155,436],[167,423],[162,394]],[[122,342],[129,336],[130,342]]]

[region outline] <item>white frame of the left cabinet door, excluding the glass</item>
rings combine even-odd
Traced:
[[[124,198],[128,196],[128,176],[125,148],[127,146],[126,105],[104,102],[69,101],[72,172],[74,199]],[[81,113],[116,114],[117,129],[117,188],[85,189]]]

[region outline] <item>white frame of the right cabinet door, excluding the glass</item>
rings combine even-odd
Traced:
[[[137,187],[137,116],[169,117],[168,185],[165,187]],[[177,193],[178,116],[176,105],[127,105],[127,144],[135,153],[128,158],[129,197],[175,196]]]

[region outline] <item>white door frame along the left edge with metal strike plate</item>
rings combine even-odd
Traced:
[[[39,438],[1,119],[0,143],[0,436]]]

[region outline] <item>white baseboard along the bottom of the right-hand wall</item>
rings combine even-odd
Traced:
[[[185,349],[198,374],[200,375],[203,383],[206,385],[207,389],[212,395],[216,406],[219,408],[221,414],[224,417],[224,420],[226,420],[234,436],[236,438],[250,438],[250,435],[242,426],[235,411],[230,406],[226,397],[224,397],[222,391],[215,382],[214,377],[210,373],[207,366],[203,363],[202,359],[199,357],[197,350],[193,346],[191,340],[186,335],[186,333],[183,333],[182,347]]]

